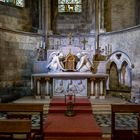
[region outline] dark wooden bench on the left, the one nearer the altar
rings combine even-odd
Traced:
[[[40,127],[38,129],[32,128],[32,131],[43,137],[43,106],[44,104],[35,103],[0,103],[0,112],[7,113],[8,118],[21,119],[25,118],[26,116],[31,118],[31,114],[37,113],[40,118]]]

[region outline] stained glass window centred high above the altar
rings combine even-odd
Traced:
[[[82,0],[58,0],[58,12],[82,12]]]

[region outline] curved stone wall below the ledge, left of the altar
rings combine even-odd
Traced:
[[[35,51],[42,37],[0,29],[0,98],[7,102],[30,95]],[[12,96],[11,96],[12,94]]]

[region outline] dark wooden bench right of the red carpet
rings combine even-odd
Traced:
[[[111,105],[111,113],[112,113],[112,134],[111,138],[112,140],[132,140],[133,138],[133,132],[134,130],[128,128],[128,129],[121,129],[116,128],[116,114],[127,114],[132,113],[136,114],[137,119],[140,117],[140,105],[137,104],[112,104]],[[138,124],[139,126],[139,124]],[[139,128],[136,128],[136,131],[140,131]],[[139,139],[140,140],[140,139]]]

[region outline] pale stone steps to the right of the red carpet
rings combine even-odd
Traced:
[[[93,114],[110,114],[111,105],[110,104],[92,104]]]

